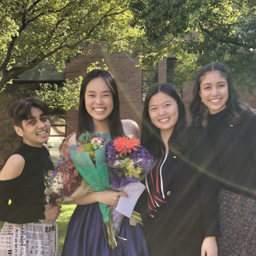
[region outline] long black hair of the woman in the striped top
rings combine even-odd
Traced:
[[[181,152],[184,149],[184,131],[187,125],[186,112],[183,100],[179,95],[175,86],[171,83],[156,84],[150,90],[145,98],[143,108],[143,125],[142,125],[142,145],[148,149],[150,154],[156,158],[160,158],[166,152],[165,144],[160,137],[160,129],[154,126],[151,122],[148,105],[152,96],[158,92],[166,93],[177,102],[178,118],[177,123],[172,131],[172,135],[168,140],[169,150],[173,152]]]

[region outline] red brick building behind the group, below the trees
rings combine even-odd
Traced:
[[[57,74],[46,69],[46,72],[38,73],[38,75],[36,73],[22,74],[19,79],[15,80],[14,84],[9,86],[9,90],[0,94],[0,131],[2,134],[0,136],[0,167],[3,166],[5,158],[18,144],[17,137],[7,115],[9,104],[14,99],[19,98],[15,86],[22,85],[26,88],[32,88],[32,86],[38,83],[61,83],[64,79],[73,80],[78,76],[84,77],[87,67],[91,63],[101,61],[102,59],[107,64],[109,71],[113,73],[113,77],[118,84],[121,119],[133,119],[141,125],[143,96],[145,96],[148,87],[151,85],[172,80],[174,71],[173,59],[161,60],[158,62],[157,67],[143,71],[140,67],[137,67],[137,58],[131,59],[125,52],[108,55],[102,52],[99,47],[96,47],[90,49],[90,55],[85,53],[84,55],[80,54],[67,62],[64,73]],[[185,86],[181,93],[188,111],[189,103],[192,99],[192,84]],[[15,94],[16,96],[13,97]],[[10,96],[12,96],[11,100]],[[241,93],[241,101],[247,102],[251,107],[256,108],[256,90],[254,90],[253,95],[250,95],[248,92]],[[57,136],[68,135],[72,131],[77,130],[78,118],[75,109],[66,112],[66,120],[65,114],[61,118],[56,118],[57,121],[54,121],[54,119],[52,119],[52,122],[55,125],[57,124],[57,126],[52,127],[51,134],[56,137],[51,137],[49,140],[50,143],[55,143],[56,141],[61,142],[63,137],[60,139]],[[60,124],[64,126],[60,126]]]

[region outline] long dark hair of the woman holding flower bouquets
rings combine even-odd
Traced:
[[[108,117],[110,134],[113,137],[123,136],[124,131],[119,114],[119,93],[117,85],[113,79],[113,75],[108,71],[101,69],[95,69],[90,73],[87,73],[82,81],[79,101],[79,133],[94,130],[92,118],[85,108],[84,94],[87,84],[89,84],[92,79],[96,78],[102,78],[106,81],[113,96],[113,111]]]

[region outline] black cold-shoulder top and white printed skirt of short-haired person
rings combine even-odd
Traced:
[[[25,166],[20,176],[0,181],[0,255],[57,255],[56,223],[44,220],[44,172],[53,167],[48,150],[21,143],[13,154]]]

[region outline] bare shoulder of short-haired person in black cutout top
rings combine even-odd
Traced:
[[[0,173],[0,180],[9,180],[20,176],[25,166],[25,160],[20,154],[13,154],[6,161]]]

